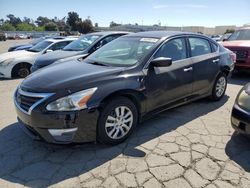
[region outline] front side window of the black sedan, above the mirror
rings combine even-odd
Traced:
[[[156,52],[154,58],[168,57],[173,61],[187,58],[186,43],[184,38],[177,38],[168,41]]]

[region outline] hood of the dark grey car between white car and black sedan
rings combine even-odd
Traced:
[[[55,61],[71,56],[78,55],[82,52],[79,51],[64,51],[64,50],[57,50],[54,52],[49,52],[47,54],[43,54],[36,59],[35,66],[37,67],[44,67],[54,63]]]

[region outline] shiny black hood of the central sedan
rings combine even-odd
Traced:
[[[72,60],[56,63],[29,75],[21,88],[32,92],[78,91],[120,74],[124,67],[109,67]]]

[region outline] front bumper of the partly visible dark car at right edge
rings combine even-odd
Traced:
[[[232,110],[231,124],[237,132],[250,135],[250,112],[235,104]]]

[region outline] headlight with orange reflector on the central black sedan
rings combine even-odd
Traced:
[[[48,111],[74,111],[82,110],[87,107],[87,102],[95,93],[97,88],[91,88],[83,91],[73,93],[69,96],[57,99],[56,101],[47,105]]]

